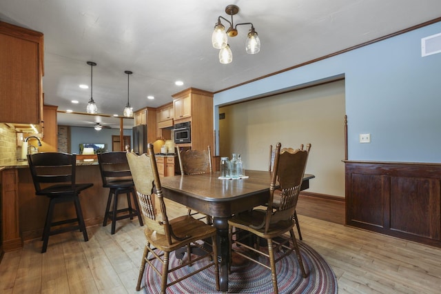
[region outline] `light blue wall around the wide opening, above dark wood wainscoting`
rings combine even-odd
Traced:
[[[345,77],[349,160],[441,163],[441,54],[421,57],[421,39],[440,32],[434,23],[218,92],[215,129],[219,106]],[[359,143],[364,133],[370,144]]]

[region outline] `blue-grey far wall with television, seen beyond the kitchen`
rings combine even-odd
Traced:
[[[112,151],[112,135],[119,136],[117,128],[94,128],[70,127],[70,150],[71,153],[79,154],[79,144],[106,144],[107,151]],[[124,135],[132,137],[132,130],[124,130]],[[131,144],[132,145],[132,144]]]

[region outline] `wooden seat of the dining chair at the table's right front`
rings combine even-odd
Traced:
[[[251,226],[260,226],[265,221],[266,210],[252,210],[245,213],[240,213],[228,220],[229,226],[234,226],[257,235],[258,237],[274,238],[284,233],[289,232],[291,228],[296,226],[294,219],[283,220],[275,224],[269,225],[269,230],[265,233],[265,226],[263,228],[252,228]]]

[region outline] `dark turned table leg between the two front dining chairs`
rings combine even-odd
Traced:
[[[229,239],[228,219],[214,217],[213,226],[217,229],[220,291],[228,292]]]

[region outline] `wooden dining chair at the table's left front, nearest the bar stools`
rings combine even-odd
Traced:
[[[147,226],[144,230],[146,244],[136,291],[141,290],[141,281],[143,280],[146,264],[161,277],[161,293],[165,293],[165,289],[168,286],[181,282],[181,280],[187,277],[214,266],[216,290],[218,291],[219,270],[216,228],[205,224],[201,220],[194,219],[191,215],[182,215],[174,219],[168,219],[152,144],[148,144],[148,156],[146,154],[136,155],[135,153],[127,153],[127,161],[132,172],[144,222]],[[159,204],[158,208],[154,206],[155,202]],[[211,238],[212,246],[201,246],[201,240],[207,238]],[[184,246],[187,247],[187,260],[175,268],[169,268],[170,253]],[[201,248],[201,251],[205,251],[205,255],[192,258],[190,246]],[[196,266],[193,267],[193,271],[177,280],[167,281],[169,273],[183,266],[190,266],[203,258],[209,258],[210,262],[199,269]],[[155,265],[155,260],[159,265]]]

